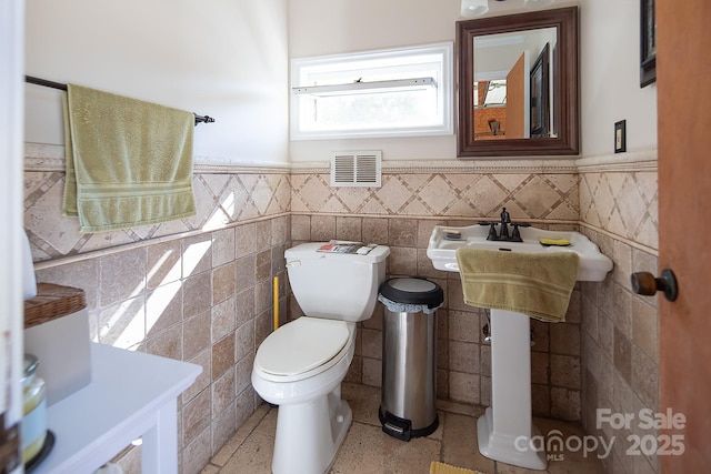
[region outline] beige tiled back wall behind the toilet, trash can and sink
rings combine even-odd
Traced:
[[[330,188],[328,171],[292,172],[294,242],[343,239],[391,248],[389,276],[423,276],[445,292],[438,311],[438,397],[490,403],[490,346],[483,342],[487,316],[463,303],[459,274],[434,270],[425,250],[437,224],[470,225],[498,219],[505,206],[513,220],[554,229],[577,229],[579,183],[574,169],[521,164],[481,169],[390,167],[382,186]],[[581,416],[580,293],[574,292],[567,322],[533,321],[533,410],[537,415],[579,421]],[[300,314],[292,302],[292,316]],[[348,380],[381,385],[382,307],[361,324]]]

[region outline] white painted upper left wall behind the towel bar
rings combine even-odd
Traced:
[[[27,74],[216,119],[197,161],[288,161],[287,0],[32,0]],[[58,92],[26,87],[26,141],[62,144]]]

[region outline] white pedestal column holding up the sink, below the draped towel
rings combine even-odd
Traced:
[[[530,446],[540,431],[531,415],[531,323],[529,316],[491,310],[491,406],[477,421],[484,456],[544,470],[545,452]],[[517,442],[518,440],[518,442]]]

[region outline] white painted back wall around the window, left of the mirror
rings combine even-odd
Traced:
[[[454,40],[460,0],[291,0],[291,58]],[[383,150],[383,160],[457,155],[454,135],[408,139],[292,141],[292,162],[328,161],[331,151]]]

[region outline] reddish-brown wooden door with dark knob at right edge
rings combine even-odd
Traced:
[[[658,293],[660,412],[685,417],[683,428],[661,432],[683,436],[682,455],[659,456],[670,474],[711,470],[709,20],[709,0],[657,0],[659,271],[679,283],[673,303]]]

